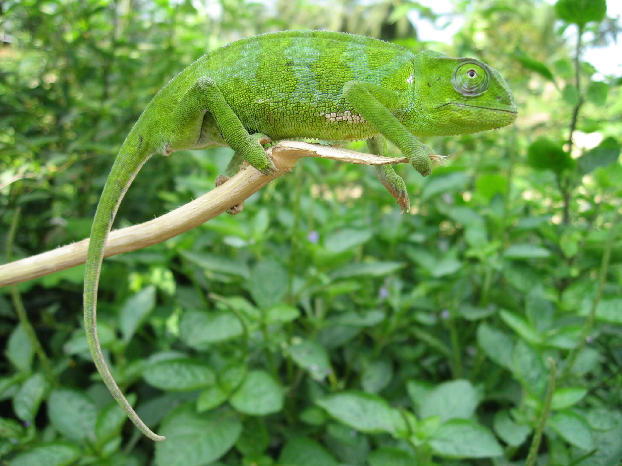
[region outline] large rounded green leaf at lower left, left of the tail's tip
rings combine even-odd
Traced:
[[[97,409],[80,391],[57,388],[47,403],[47,414],[52,426],[61,435],[75,441],[95,441]]]

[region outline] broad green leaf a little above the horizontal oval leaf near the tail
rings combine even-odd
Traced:
[[[238,317],[228,312],[186,311],[179,322],[183,342],[198,350],[239,337],[243,331]]]

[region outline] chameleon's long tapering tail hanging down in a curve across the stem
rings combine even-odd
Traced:
[[[128,137],[128,140],[131,136]],[[139,431],[154,441],[164,440],[164,437],[155,434],[142,422],[132,406],[126,400],[119,386],[114,381],[110,373],[108,365],[101,353],[100,340],[97,336],[97,290],[100,281],[101,262],[104,256],[104,245],[108,239],[108,234],[112,227],[114,216],[123,199],[124,194],[134,180],[134,176],[141,169],[151,153],[147,152],[147,148],[140,150],[128,150],[128,140],[121,147],[121,151],[114,161],[104,191],[100,197],[100,203],[95,212],[93,219],[93,227],[91,227],[91,237],[88,245],[88,254],[86,255],[86,272],[84,278],[84,323],[86,328],[86,339],[88,340],[88,349],[93,356],[93,361],[100,372],[101,378],[108,387],[111,395],[123,408],[123,411],[131,419],[132,423],[138,427]],[[142,142],[142,139],[141,139]]]

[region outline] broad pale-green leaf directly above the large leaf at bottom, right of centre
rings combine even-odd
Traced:
[[[479,398],[468,380],[443,382],[427,394],[419,414],[421,418],[439,416],[441,422],[449,419],[468,419],[475,413]]]

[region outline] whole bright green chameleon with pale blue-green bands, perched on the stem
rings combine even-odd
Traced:
[[[226,145],[233,160],[269,175],[276,171],[264,144],[279,139],[366,139],[387,156],[391,141],[422,176],[434,152],[415,136],[458,135],[511,124],[517,109],[498,71],[473,58],[450,58],[361,35],[317,30],[261,34],[203,55],[147,105],[114,161],[97,206],[86,258],[84,320],[101,377],[134,424],[156,435],[134,412],[101,353],[96,326],[104,245],[126,190],[154,153]],[[432,156],[432,158],[430,158]],[[379,180],[403,209],[410,201],[391,165]],[[240,206],[231,209],[239,211]]]

